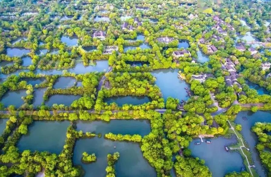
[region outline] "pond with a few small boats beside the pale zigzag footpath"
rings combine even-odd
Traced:
[[[193,157],[205,160],[205,165],[208,166],[213,177],[221,177],[229,172],[241,171],[243,167],[242,156],[238,152],[227,152],[224,148],[225,145],[237,142],[235,136],[230,139],[222,137],[211,139],[211,144],[206,143],[205,140],[200,145],[194,144],[200,139],[193,140],[189,149],[191,149]]]

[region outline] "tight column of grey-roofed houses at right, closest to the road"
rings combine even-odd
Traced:
[[[229,58],[226,58],[226,62],[221,69],[226,69],[227,71],[229,71],[229,76],[225,76],[225,82],[227,87],[233,87],[233,85],[235,84],[238,88],[242,89],[241,84],[237,82],[238,74],[235,69],[235,64]]]

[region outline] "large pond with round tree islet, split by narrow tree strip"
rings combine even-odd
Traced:
[[[82,130],[83,132],[95,131],[95,133],[103,134],[109,132],[115,134],[140,134],[142,136],[149,134],[151,131],[148,120],[111,120],[109,123],[102,121],[78,121],[77,130]],[[83,164],[81,158],[84,151],[89,154],[95,153],[97,161],[91,164]],[[115,164],[117,176],[156,176],[154,168],[143,157],[139,144],[125,141],[110,141],[103,137],[77,140],[73,162],[75,165],[82,165],[85,170],[85,176],[105,176],[107,154],[116,151],[120,153],[120,158]]]

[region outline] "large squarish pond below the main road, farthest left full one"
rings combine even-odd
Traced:
[[[19,151],[49,151],[59,154],[65,145],[69,121],[33,121],[18,141]]]

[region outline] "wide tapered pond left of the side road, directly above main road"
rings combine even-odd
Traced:
[[[78,100],[80,95],[68,95],[68,94],[56,94],[49,96],[45,104],[52,107],[53,104],[64,104],[65,106],[70,106],[74,100]]]

